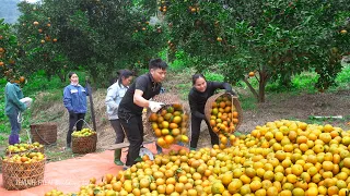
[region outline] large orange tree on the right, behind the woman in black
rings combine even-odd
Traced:
[[[198,70],[243,79],[260,102],[269,81],[288,83],[302,71],[315,70],[316,88],[327,89],[349,51],[350,4],[339,0],[164,2],[171,51],[184,50]],[[248,72],[255,73],[258,90]]]

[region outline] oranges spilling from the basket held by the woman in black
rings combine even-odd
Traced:
[[[209,122],[212,131],[219,135],[220,148],[225,148],[229,140],[231,145],[234,143],[233,133],[240,122],[238,115],[230,95],[224,94],[212,102]]]

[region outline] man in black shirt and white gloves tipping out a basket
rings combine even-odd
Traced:
[[[150,101],[159,95],[162,88],[162,81],[166,75],[167,64],[161,59],[152,59],[149,63],[150,72],[140,75],[126,91],[120,101],[118,117],[130,143],[126,166],[136,163],[139,157],[140,147],[143,143],[142,110],[149,107],[152,112],[158,112],[163,103]]]

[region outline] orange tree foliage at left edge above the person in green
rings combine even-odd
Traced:
[[[20,50],[18,38],[10,24],[0,19],[0,77],[11,82],[24,83],[25,77],[20,73],[22,62],[19,60]]]

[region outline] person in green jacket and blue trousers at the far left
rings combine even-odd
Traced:
[[[19,115],[27,107],[20,99],[23,98],[23,93],[19,84],[8,82],[4,88],[5,98],[5,114],[8,115],[11,124],[11,135],[9,137],[9,144],[14,145],[20,143],[21,122],[19,122]]]

